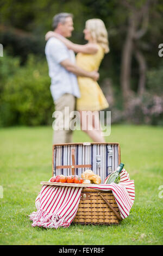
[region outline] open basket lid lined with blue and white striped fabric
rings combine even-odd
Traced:
[[[101,176],[102,183],[121,162],[119,143],[64,143],[53,145],[52,175],[79,175],[86,169]]]

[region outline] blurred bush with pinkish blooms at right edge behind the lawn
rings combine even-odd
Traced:
[[[146,92],[141,96],[133,92],[125,111],[117,107],[118,100],[111,106],[111,122],[163,125],[162,80],[163,62],[158,69],[147,72]]]

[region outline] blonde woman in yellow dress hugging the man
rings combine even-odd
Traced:
[[[48,32],[46,40],[51,36],[55,36],[61,40],[67,48],[78,53],[76,56],[76,64],[86,71],[98,70],[105,53],[109,52],[108,33],[104,22],[100,19],[90,19],[86,21],[83,31],[87,44],[78,45],[64,38],[58,33]],[[93,142],[105,142],[99,121],[99,113],[102,109],[108,108],[109,104],[99,87],[98,83],[88,77],[78,77],[78,84],[81,97],[77,99],[76,109],[80,113],[80,125],[83,127],[87,135],[91,137]],[[86,111],[92,112],[92,118],[85,118]]]

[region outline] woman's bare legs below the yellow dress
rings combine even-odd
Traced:
[[[99,125],[99,115],[98,112],[95,113],[90,113],[91,111],[79,111],[80,113],[80,127],[82,131],[86,132],[87,135],[89,135],[92,139],[93,142],[105,142],[103,136],[102,136],[102,131],[100,129]],[[91,114],[89,117],[89,113]],[[94,114],[94,117],[93,117]],[[95,118],[96,116],[96,118]],[[97,130],[95,130],[97,129]]]

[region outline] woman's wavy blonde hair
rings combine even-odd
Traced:
[[[104,52],[109,52],[108,32],[106,31],[105,24],[101,19],[90,19],[85,23],[86,29],[91,33],[93,41],[101,45]]]

